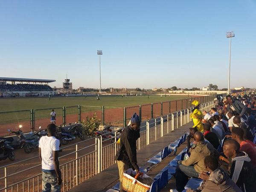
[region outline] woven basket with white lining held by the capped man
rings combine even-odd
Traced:
[[[122,177],[122,189],[127,192],[148,192],[150,186],[145,185],[136,178],[124,173]]]

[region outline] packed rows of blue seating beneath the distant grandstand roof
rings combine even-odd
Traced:
[[[52,91],[47,84],[1,84],[1,91]]]

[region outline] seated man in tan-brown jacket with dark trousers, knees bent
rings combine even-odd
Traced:
[[[179,192],[183,191],[189,177],[198,177],[199,173],[207,172],[204,164],[206,156],[219,156],[218,151],[212,144],[204,141],[204,136],[201,132],[195,132],[194,139],[195,146],[189,149],[190,157],[187,160],[178,161],[178,166],[176,167],[176,188]]]

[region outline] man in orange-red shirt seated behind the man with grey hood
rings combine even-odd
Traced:
[[[250,140],[244,140],[244,131],[239,127],[232,129],[232,139],[240,144],[240,151],[244,151],[251,159],[251,163],[256,167],[256,148],[255,144]]]

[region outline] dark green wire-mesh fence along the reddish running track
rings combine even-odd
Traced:
[[[8,111],[0,112],[0,136],[6,136],[9,128],[17,128],[23,125],[23,132],[35,131],[39,126],[45,128],[50,123],[50,113],[54,109],[56,116],[56,124],[69,124],[86,120],[87,116],[92,117],[96,114],[102,125],[113,125],[125,127],[133,113],[140,115],[142,121],[156,118],[174,111],[191,107],[191,103],[198,99],[203,101],[212,101],[215,95],[191,97],[176,101],[152,103],[151,105],[138,105],[127,108],[114,108],[105,106],[67,106],[62,108],[32,109],[24,111]],[[7,120],[8,119],[8,120]]]

